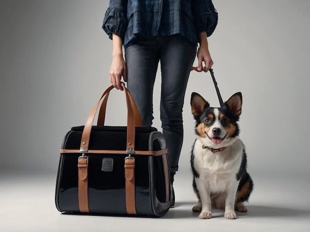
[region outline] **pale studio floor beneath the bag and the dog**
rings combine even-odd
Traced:
[[[13,174],[15,173],[15,174]],[[175,178],[175,208],[161,218],[85,216],[62,214],[54,205],[55,174],[0,172],[0,230],[2,232],[183,232],[251,231],[309,232],[310,182],[308,177],[287,178],[252,175],[255,190],[248,212],[238,219],[225,219],[222,210],[212,210],[212,219],[202,220],[191,211],[196,196],[190,173]]]

